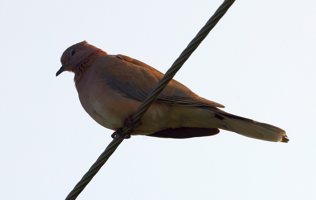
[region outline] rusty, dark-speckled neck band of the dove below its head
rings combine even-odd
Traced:
[[[96,50],[85,56],[74,68],[75,78],[74,81],[78,81],[85,71],[91,66],[91,64],[100,56],[107,55],[105,51]]]

